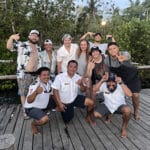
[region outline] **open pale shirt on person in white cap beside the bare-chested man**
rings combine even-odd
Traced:
[[[40,52],[40,66],[42,67],[48,67],[52,74],[55,73],[56,70],[56,53],[54,50],[52,50],[52,64],[50,61],[50,58],[46,52],[46,50]]]

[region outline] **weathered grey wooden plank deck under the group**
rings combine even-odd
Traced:
[[[69,125],[59,112],[50,113],[50,121],[39,127],[41,134],[32,135],[32,119],[24,120],[20,105],[0,105],[0,135],[15,136],[16,150],[150,150],[150,89],[140,93],[140,121],[133,115],[128,124],[128,137],[120,137],[122,118],[113,115],[110,124],[96,120],[95,126],[85,121],[85,110],[75,108]],[[131,101],[129,105],[133,107]]]

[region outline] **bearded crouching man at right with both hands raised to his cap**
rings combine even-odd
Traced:
[[[111,114],[123,114],[121,137],[126,137],[131,110],[130,107],[126,105],[125,96],[132,96],[130,89],[122,82],[120,77],[116,77],[113,73],[110,73],[108,77],[103,76],[103,78],[93,86],[93,91],[103,92],[104,94],[104,103],[100,103],[96,106],[94,116],[101,118],[106,115],[106,121],[109,121]]]

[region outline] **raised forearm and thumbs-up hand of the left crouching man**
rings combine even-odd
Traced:
[[[42,91],[43,91],[43,88],[40,87],[40,85],[39,85],[39,86],[37,87],[37,89],[36,89],[31,95],[29,95],[29,96],[27,97],[27,102],[28,102],[28,103],[34,102],[36,96],[37,96],[38,94],[41,94]]]

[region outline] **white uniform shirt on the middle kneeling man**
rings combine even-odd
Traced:
[[[64,104],[72,103],[78,95],[79,85],[77,81],[81,76],[75,74],[72,78],[67,72],[58,74],[52,84],[52,88],[59,91],[61,102]]]

